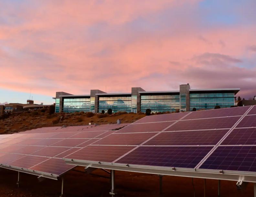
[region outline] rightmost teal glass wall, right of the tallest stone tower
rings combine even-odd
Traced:
[[[215,106],[229,108],[235,105],[234,93],[190,93],[190,111],[193,108],[214,109]]]

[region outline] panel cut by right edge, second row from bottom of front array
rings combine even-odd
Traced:
[[[256,128],[234,129],[221,145],[255,145]]]

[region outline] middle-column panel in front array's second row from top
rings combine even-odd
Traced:
[[[208,118],[198,120],[183,120],[175,123],[166,131],[185,131],[202,129],[222,129],[231,128],[239,120],[238,117]]]

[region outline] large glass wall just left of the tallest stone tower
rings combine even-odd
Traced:
[[[151,112],[175,111],[180,108],[179,95],[142,95],[141,112],[148,108]]]

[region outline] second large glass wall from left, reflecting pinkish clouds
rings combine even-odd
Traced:
[[[132,97],[99,97],[98,112],[108,109],[112,109],[113,113],[118,111],[131,112],[132,109]]]

